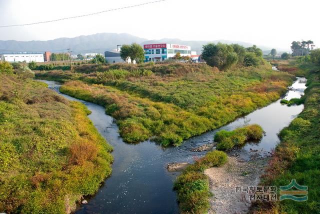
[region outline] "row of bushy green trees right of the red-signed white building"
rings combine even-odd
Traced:
[[[202,58],[210,66],[220,70],[234,64],[239,66],[258,66],[262,61],[262,50],[256,45],[243,47],[239,44],[208,43],[203,45]]]

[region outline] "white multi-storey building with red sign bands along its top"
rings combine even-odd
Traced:
[[[191,47],[183,44],[144,44],[144,61],[164,61],[176,53],[191,57]]]

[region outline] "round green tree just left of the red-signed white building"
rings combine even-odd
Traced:
[[[135,60],[136,63],[140,63],[144,61],[144,50],[137,43],[123,44],[120,50],[120,57],[126,62],[130,58],[131,62]]]

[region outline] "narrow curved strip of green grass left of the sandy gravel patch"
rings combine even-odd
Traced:
[[[181,213],[206,213],[209,204],[209,180],[204,170],[221,166],[227,162],[223,151],[209,151],[205,156],[189,165],[175,180],[173,189],[177,193]]]

